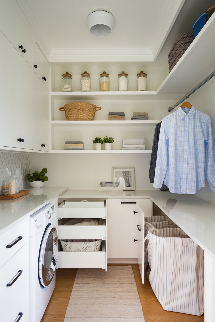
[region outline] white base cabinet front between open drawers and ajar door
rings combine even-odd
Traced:
[[[108,199],[108,258],[137,260],[137,225],[142,209],[151,216],[150,199]]]

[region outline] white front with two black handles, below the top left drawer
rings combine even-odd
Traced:
[[[16,321],[19,312],[23,313],[20,322],[29,321],[29,261],[28,244],[25,244],[0,269],[0,301],[1,321]],[[20,274],[19,270],[22,270]],[[6,286],[12,283],[11,286]]]

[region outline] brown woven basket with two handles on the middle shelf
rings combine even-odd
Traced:
[[[69,103],[60,107],[65,112],[67,121],[93,121],[95,112],[102,109],[90,103]]]

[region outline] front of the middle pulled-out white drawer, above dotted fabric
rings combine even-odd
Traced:
[[[98,226],[58,226],[58,239],[105,239],[105,220]]]

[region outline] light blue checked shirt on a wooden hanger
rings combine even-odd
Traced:
[[[195,194],[205,186],[215,192],[215,147],[210,117],[179,107],[163,118],[153,187],[163,182],[172,193]]]

